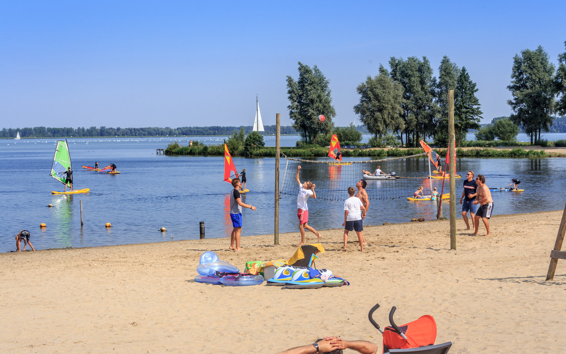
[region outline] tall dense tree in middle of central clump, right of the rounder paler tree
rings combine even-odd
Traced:
[[[438,104],[434,101],[434,78],[432,67],[426,57],[391,57],[391,78],[403,87],[401,118],[405,123],[406,145],[417,146],[419,137],[434,130],[434,119],[438,115]],[[380,70],[383,72],[384,70]],[[401,134],[402,142],[402,134]]]

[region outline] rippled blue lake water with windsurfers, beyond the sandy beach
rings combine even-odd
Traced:
[[[271,145],[270,138],[266,140]],[[230,235],[231,185],[223,181],[224,157],[155,155],[157,148],[165,148],[174,137],[67,140],[74,187],[88,187],[91,189],[88,194],[50,193],[63,189],[61,183],[49,176],[57,139],[0,140],[0,196],[4,206],[0,252],[15,250],[14,236],[22,229],[31,231],[36,249],[198,239],[199,221],[205,222],[207,238]],[[275,145],[275,137],[272,140]],[[282,142],[294,144],[296,140],[296,136],[282,137]],[[95,161],[102,166],[115,163],[121,174],[80,168],[92,166]],[[234,162],[238,170],[246,168],[247,172],[247,187],[251,192],[243,195],[243,202],[258,208],[255,212],[243,211],[242,236],[273,233],[275,159],[235,157]],[[381,167],[386,171],[396,170],[400,176],[401,173],[422,175],[415,185],[426,181],[424,177],[428,174],[427,160],[422,157],[382,163]],[[520,178],[524,193],[493,193],[494,214],[564,208],[564,198],[557,197],[553,186],[563,178],[566,159],[464,157],[458,159],[457,168],[484,174],[490,187],[503,187],[511,178]],[[284,172],[282,159],[281,181]],[[324,176],[317,178],[324,184]],[[351,185],[356,181],[351,181]],[[459,197],[462,180],[456,182]],[[441,184],[441,180],[434,183]],[[83,201],[83,228],[80,201]],[[294,195],[284,195],[281,199],[280,232],[298,231],[296,201]],[[53,207],[47,207],[48,204]],[[312,227],[341,228],[343,202],[315,199],[308,205]],[[447,215],[447,202],[443,208]],[[459,210],[458,204],[457,215]],[[413,217],[432,219],[435,213],[432,202],[408,202],[406,198],[371,201],[365,224],[405,222]],[[40,223],[46,223],[47,228],[40,229]],[[105,223],[112,223],[113,227],[106,229]],[[167,231],[160,232],[161,227]],[[245,239],[242,245],[246,245]]]

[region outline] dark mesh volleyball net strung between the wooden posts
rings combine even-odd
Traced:
[[[430,166],[426,153],[381,160],[342,161],[340,164],[324,157],[320,160],[293,159],[285,155],[284,157],[286,165],[280,198],[285,195],[297,195],[299,186],[296,178],[299,165],[301,182],[311,181],[316,185],[316,198],[328,201],[345,201],[349,198],[348,187],[355,188],[360,180],[367,182],[368,198],[374,200],[413,197],[420,186],[423,187],[424,195],[430,195],[432,188],[439,187],[442,183],[442,180],[428,178]],[[376,179],[373,176],[364,176],[364,171],[373,173],[378,167],[381,167],[384,173],[394,174],[396,177]]]

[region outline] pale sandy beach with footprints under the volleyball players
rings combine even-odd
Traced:
[[[370,246],[340,251],[342,229],[322,232],[316,263],[349,287],[290,290],[195,283],[203,251],[243,269],[289,258],[298,233],[0,254],[2,353],[278,352],[325,335],[381,336],[367,321],[398,324],[431,314],[436,343],[451,353],[559,353],[566,347],[566,261],[545,282],[561,211],[492,217],[492,236],[468,236],[457,220],[367,227]],[[483,233],[482,233],[483,232]],[[485,234],[483,225],[480,234]],[[352,237],[354,236],[354,237]],[[307,234],[308,241],[316,237]],[[357,240],[354,234],[350,240]],[[349,351],[351,352],[351,351]]]

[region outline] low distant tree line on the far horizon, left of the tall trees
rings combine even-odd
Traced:
[[[275,134],[275,125],[264,125],[263,134]],[[0,138],[15,138],[19,132],[22,138],[61,138],[61,137],[159,137],[159,136],[175,136],[175,135],[231,135],[235,130],[243,128],[248,134],[252,131],[253,126],[209,126],[209,127],[179,127],[179,128],[111,128],[96,127],[89,128],[78,127],[76,129],[68,128],[46,128],[46,127],[26,127],[26,128],[4,128],[0,131]],[[297,134],[292,126],[282,126],[281,134]]]

